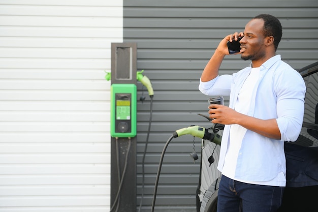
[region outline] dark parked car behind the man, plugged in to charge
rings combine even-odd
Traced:
[[[287,185],[278,212],[318,211],[318,62],[299,70],[306,83],[305,112],[295,142],[285,142]],[[221,135],[221,131],[218,132]],[[215,212],[220,172],[219,145],[203,140],[197,211]],[[214,160],[213,163],[211,163]]]

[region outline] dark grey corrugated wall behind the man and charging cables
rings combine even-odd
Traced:
[[[295,69],[318,59],[318,1],[141,1],[124,0],[123,40],[137,42],[137,69],[145,70],[154,89],[153,116],[145,157],[145,189],[141,211],[150,211],[163,147],[177,129],[210,127],[197,113],[207,114],[207,96],[199,78],[218,42],[243,31],[254,16],[278,17],[283,38],[277,53]],[[220,74],[231,74],[250,62],[227,56]],[[138,98],[142,86],[138,85]],[[142,193],[142,158],[149,120],[149,97],[138,102],[137,206]],[[226,99],[225,104],[227,104]],[[201,140],[195,139],[200,153]],[[194,164],[193,137],[171,141],[161,171],[155,211],[195,211],[199,160]]]

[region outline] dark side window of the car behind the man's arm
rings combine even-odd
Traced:
[[[295,144],[318,147],[318,72],[306,74],[305,112],[303,127]]]

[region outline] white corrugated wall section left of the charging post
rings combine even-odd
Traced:
[[[122,0],[0,0],[0,212],[109,211]]]

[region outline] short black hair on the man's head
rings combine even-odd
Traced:
[[[268,14],[260,14],[258,16],[255,16],[253,19],[264,20],[264,30],[263,30],[264,36],[274,37],[274,47],[276,51],[282,36],[282,26],[278,18]]]

